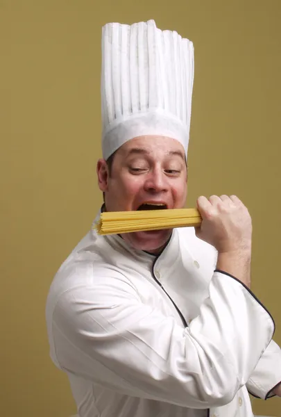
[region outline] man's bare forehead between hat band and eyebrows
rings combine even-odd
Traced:
[[[181,143],[166,136],[139,136],[128,140],[119,150],[120,154],[125,157],[134,153],[155,156],[178,154],[185,158],[185,149]]]

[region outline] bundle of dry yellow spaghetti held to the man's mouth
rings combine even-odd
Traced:
[[[197,227],[202,218],[196,208],[173,208],[143,211],[105,211],[95,225],[101,235],[123,234],[133,231]]]

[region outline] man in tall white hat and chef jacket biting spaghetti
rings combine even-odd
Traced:
[[[182,208],[193,44],[151,20],[106,24],[102,48],[102,210]],[[198,210],[196,230],[92,229],[58,270],[51,358],[78,416],[250,417],[249,393],[281,396],[275,323],[250,291],[250,214],[234,195]]]

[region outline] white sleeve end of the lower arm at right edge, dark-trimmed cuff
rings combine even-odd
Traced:
[[[267,400],[274,397],[271,391],[281,384],[281,349],[271,341],[259,359],[246,384],[250,394]]]

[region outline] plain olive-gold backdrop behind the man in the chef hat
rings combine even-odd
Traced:
[[[1,389],[5,417],[75,413],[49,359],[53,275],[102,202],[101,26],[155,19],[194,42],[188,206],[235,193],[253,215],[253,291],[280,284],[280,0],[0,0]],[[281,398],[253,400],[281,416]]]

